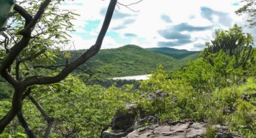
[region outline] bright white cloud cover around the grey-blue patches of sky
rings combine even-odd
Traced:
[[[119,0],[123,4],[129,4],[136,2],[137,0]],[[102,9],[108,6],[109,1],[101,0],[76,0],[70,1],[69,4],[63,5],[61,8],[67,10],[75,10],[76,13],[80,14],[77,20],[74,22],[77,32],[86,33],[83,30],[89,20],[100,20],[99,25],[89,32],[90,35],[98,35],[99,29],[101,28],[104,16],[100,13]],[[135,16],[125,16],[123,19],[113,19],[111,21],[110,29],[108,31],[114,31],[119,37],[105,37],[102,48],[114,48],[123,46],[123,44],[137,44],[142,47],[157,47],[159,41],[168,41],[158,34],[159,30],[167,29],[170,26],[178,25],[180,23],[188,23],[192,26],[212,26],[212,29],[207,31],[195,31],[186,32],[191,35],[192,43],[185,44],[184,46],[178,46],[178,49],[188,50],[199,50],[199,47],[195,47],[194,44],[202,44],[205,41],[210,41],[213,38],[214,29],[228,29],[234,23],[239,25],[245,25],[246,22],[234,13],[239,6],[234,6],[234,2],[238,0],[161,0],[161,1],[149,1],[144,0],[140,4],[133,5],[131,8],[134,10],[140,10],[138,13],[134,13],[128,8],[120,6],[120,9],[116,8],[116,12],[124,14],[133,14]],[[74,4],[77,3],[77,4]],[[225,13],[226,17],[230,20],[231,26],[226,26],[228,23],[223,23],[223,16],[217,14],[212,15],[213,20],[205,19],[201,16],[201,7],[207,7],[216,13]],[[115,13],[117,14],[117,13]],[[164,22],[161,16],[169,16],[172,22]],[[224,14],[223,14],[224,15]],[[222,19],[222,20],[220,20]],[[130,20],[130,23],[125,24],[125,20]],[[131,20],[135,20],[131,22]],[[115,29],[119,27],[118,29]],[[251,29],[245,29],[246,32],[252,32]],[[253,32],[254,33],[254,32]],[[136,37],[132,38],[130,43],[123,42],[117,43],[116,40],[125,38],[125,34],[136,34]],[[255,34],[255,33],[254,33]],[[87,46],[91,46],[95,39],[84,38],[79,35],[73,35],[75,44],[78,49],[86,49]],[[86,45],[86,46],[85,46]]]

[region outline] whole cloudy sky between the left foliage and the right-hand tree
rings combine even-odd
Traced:
[[[119,0],[130,4],[138,0]],[[72,40],[76,49],[88,49],[95,43],[109,0],[66,1],[62,8],[80,14],[74,21]],[[240,0],[144,0],[133,5],[134,12],[116,7],[102,49],[136,44],[140,47],[173,47],[202,50],[205,41],[214,38],[215,29],[228,29],[234,23],[245,26],[245,17],[234,11]],[[254,33],[244,27],[245,32]]]

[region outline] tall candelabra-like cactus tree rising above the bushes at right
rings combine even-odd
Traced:
[[[206,43],[208,48],[202,53],[202,57],[207,59],[211,65],[214,66],[211,53],[218,53],[220,50],[229,56],[234,56],[234,68],[245,69],[245,65],[252,62],[252,45],[254,43],[251,34],[245,35],[241,27],[234,25],[229,31],[217,30],[215,35],[216,38],[211,43]]]

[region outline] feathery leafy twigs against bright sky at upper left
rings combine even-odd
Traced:
[[[20,64],[20,74],[22,74],[20,76],[37,75],[39,71],[34,68],[36,65],[55,64],[55,58],[60,53],[60,46],[69,42],[70,35],[68,32],[73,31],[72,20],[75,20],[75,16],[78,15],[72,11],[60,10],[60,2],[52,1],[48,5],[45,14],[32,32],[28,46],[17,57],[19,62],[24,60],[22,61],[23,64]],[[35,16],[42,1],[19,1],[17,4],[24,7],[31,16]],[[25,23],[25,19],[20,14],[14,14],[10,19],[8,24],[10,27],[4,32],[8,38],[8,46],[5,46],[4,38],[0,39],[0,62],[7,57],[11,46],[22,39],[17,34],[22,31]],[[31,58],[35,55],[37,55],[36,58]]]

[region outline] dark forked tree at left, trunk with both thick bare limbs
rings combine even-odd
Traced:
[[[89,50],[87,50],[83,55],[81,55],[79,58],[75,59],[75,61],[71,62],[69,65],[67,65],[60,73],[57,74],[57,76],[53,77],[28,77],[27,79],[23,80],[22,82],[17,82],[17,80],[13,79],[10,74],[7,73],[7,68],[11,67],[14,60],[16,59],[17,55],[28,46],[31,39],[31,32],[34,29],[34,26],[39,21],[40,17],[42,17],[42,14],[45,11],[45,8],[47,5],[51,2],[51,0],[45,0],[39,7],[39,11],[37,11],[36,16],[31,20],[30,23],[28,23],[27,26],[20,32],[20,34],[23,36],[22,39],[14,44],[13,47],[10,49],[10,53],[8,53],[7,58],[3,62],[0,63],[0,74],[3,76],[11,85],[13,85],[15,91],[13,94],[12,99],[12,106],[7,115],[4,116],[0,120],[0,133],[4,131],[5,127],[10,124],[11,120],[17,115],[19,110],[22,107],[22,97],[23,93],[25,92],[25,89],[28,86],[36,85],[36,84],[51,84],[60,82],[65,77],[69,75],[75,68],[86,62],[89,58],[96,55],[96,53],[99,52],[101,49],[102,41],[105,37],[105,34],[107,32],[108,26],[110,25],[111,18],[113,16],[114,8],[116,6],[117,0],[111,0],[110,4],[108,6],[107,14],[105,16],[104,23],[102,25],[101,31],[99,32],[98,38],[96,40],[96,43],[90,47]],[[47,133],[46,133],[47,134]]]

